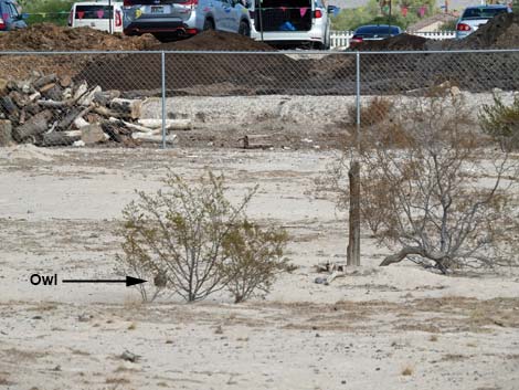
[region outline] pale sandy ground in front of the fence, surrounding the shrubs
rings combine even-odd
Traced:
[[[315,192],[322,150],[0,149],[0,389],[519,388],[519,274],[441,276],[362,266],[331,285],[346,220]],[[284,225],[298,268],[265,297],[142,305],[119,285],[33,286],[33,273],[114,277],[121,208],[171,169],[225,172],[231,196],[261,185],[250,214]],[[120,358],[125,350],[139,356]]]

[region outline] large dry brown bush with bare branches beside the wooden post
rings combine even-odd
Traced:
[[[462,97],[405,103],[392,118],[405,134],[405,147],[390,147],[384,134],[372,130],[371,146],[359,157],[363,222],[395,250],[381,265],[407,259],[446,273],[519,264],[517,166],[509,155],[481,147],[483,135]],[[331,172],[346,208],[348,166],[345,155]]]

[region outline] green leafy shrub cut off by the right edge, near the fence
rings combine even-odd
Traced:
[[[519,150],[519,97],[505,105],[494,95],[494,105],[485,104],[479,115],[483,130],[500,143],[507,150]]]

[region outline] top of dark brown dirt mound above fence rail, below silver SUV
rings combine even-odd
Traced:
[[[247,36],[233,34],[231,32],[221,31],[203,31],[193,38],[184,41],[162,43],[156,45],[153,50],[184,50],[184,51],[258,51],[267,52],[274,51],[272,46],[266,43],[254,41]]]

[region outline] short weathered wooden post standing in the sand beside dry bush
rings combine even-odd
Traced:
[[[360,265],[360,162],[352,160],[350,182],[349,241],[347,265]]]

